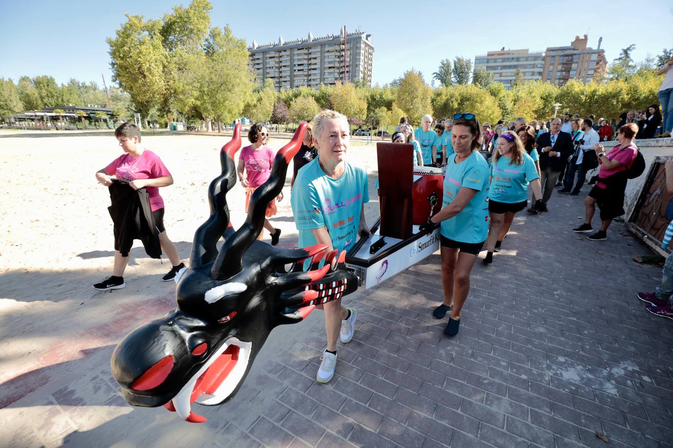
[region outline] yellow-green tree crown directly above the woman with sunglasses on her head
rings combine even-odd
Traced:
[[[495,98],[479,85],[456,84],[436,89],[432,105],[437,116],[450,117],[457,112],[472,112],[480,122],[497,121],[501,110]]]

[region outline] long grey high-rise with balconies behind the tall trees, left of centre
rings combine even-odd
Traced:
[[[254,40],[248,47],[249,66],[258,83],[271,79],[277,91],[308,86],[318,89],[320,84],[336,81],[360,81],[371,85],[371,66],[374,45],[371,34],[357,31],[332,34],[285,42],[258,45]]]

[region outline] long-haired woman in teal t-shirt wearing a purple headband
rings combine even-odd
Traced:
[[[507,236],[514,215],[528,204],[528,183],[532,183],[533,195],[542,197],[540,174],[531,156],[526,152],[518,135],[502,132],[498,138],[498,151],[491,163],[491,187],[489,188],[489,215],[491,227],[484,263],[493,263],[493,252]],[[535,203],[540,210],[542,199]],[[505,224],[503,226],[503,224]]]

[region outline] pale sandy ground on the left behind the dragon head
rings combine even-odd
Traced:
[[[184,261],[194,230],[209,214],[207,186],[219,173],[218,152],[227,141],[229,136],[223,135],[157,132],[143,136],[145,148],[162,158],[175,180],[161,189],[164,223]],[[278,149],[287,141],[272,138],[269,144]],[[108,189],[94,177],[121,154],[112,132],[4,130],[0,154],[1,408],[49,382],[55,371],[47,378],[16,385],[9,380],[109,345],[133,323],[174,306],[175,285],[160,281],[170,269],[168,259],[164,257],[163,263],[150,259],[137,241],[125,273],[125,289],[104,293],[91,286],[112,271],[114,240],[106,210],[110,199]],[[369,173],[376,170],[373,144],[353,142],[350,157]],[[288,173],[291,176],[292,167]],[[289,176],[285,200],[271,219],[282,229],[281,247],[297,243]],[[374,181],[370,181],[370,197],[376,199]],[[245,218],[240,184],[229,192],[227,201],[237,226]],[[366,210],[371,223],[378,216],[376,200]],[[265,240],[270,240],[268,233]]]

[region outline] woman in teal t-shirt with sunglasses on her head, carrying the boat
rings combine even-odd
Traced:
[[[470,273],[489,233],[489,165],[479,153],[481,126],[474,114],[456,114],[451,135],[454,154],[444,176],[444,205],[420,226],[441,222],[441,284],[444,302],[432,315],[441,319],[453,306],[444,334],[458,334],[460,311],[470,292]]]

